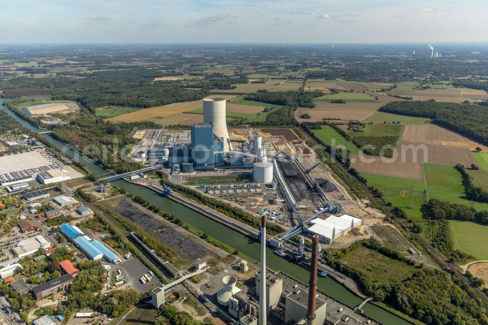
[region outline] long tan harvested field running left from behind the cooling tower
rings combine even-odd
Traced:
[[[231,99],[233,95],[219,95],[225,99]],[[155,106],[150,108],[143,108],[140,111],[123,114],[110,118],[110,122],[141,122],[141,121],[154,121],[168,116],[184,113],[197,108],[202,108],[202,100],[192,102],[174,102],[172,104]]]

